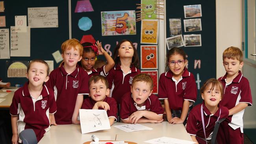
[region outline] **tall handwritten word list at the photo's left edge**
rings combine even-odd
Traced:
[[[0,29],[0,59],[10,58],[9,28]]]

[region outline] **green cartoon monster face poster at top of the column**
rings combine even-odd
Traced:
[[[156,19],[156,0],[141,0],[141,14],[145,15],[142,19]]]

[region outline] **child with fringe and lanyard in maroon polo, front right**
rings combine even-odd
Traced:
[[[219,105],[223,98],[223,86],[217,79],[204,82],[200,94],[204,101],[189,113],[186,130],[194,142],[206,144],[211,140],[215,122],[226,118],[228,109]]]

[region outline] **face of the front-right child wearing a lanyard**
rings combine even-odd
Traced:
[[[204,90],[204,93],[202,93],[202,99],[206,107],[215,107],[221,101],[221,91],[216,86],[211,90],[211,85],[209,85],[206,90]]]

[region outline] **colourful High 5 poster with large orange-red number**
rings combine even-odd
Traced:
[[[136,35],[135,11],[102,11],[102,36]]]

